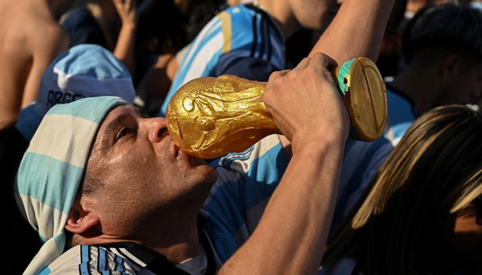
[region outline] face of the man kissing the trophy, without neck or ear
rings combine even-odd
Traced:
[[[216,173],[180,151],[165,127],[164,118],[147,118],[131,105],[109,112],[86,168],[86,177],[102,183],[94,197],[105,212],[146,217],[202,206]]]

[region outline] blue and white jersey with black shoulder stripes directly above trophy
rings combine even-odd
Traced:
[[[189,80],[219,76],[240,58],[257,58],[284,69],[285,53],[282,34],[264,10],[251,4],[227,8],[189,46],[158,115],[165,116],[169,100]]]

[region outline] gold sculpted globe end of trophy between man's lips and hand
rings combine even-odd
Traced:
[[[213,158],[240,152],[279,133],[262,102],[266,83],[223,75],[191,80],[171,98],[167,129],[189,155]]]

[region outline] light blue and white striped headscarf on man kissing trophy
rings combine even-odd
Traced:
[[[98,127],[109,111],[127,104],[118,97],[56,104],[44,116],[19,166],[17,205],[39,232],[43,246],[25,274],[39,274],[65,248],[65,222],[83,177]]]

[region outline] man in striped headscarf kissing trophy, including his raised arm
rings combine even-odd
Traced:
[[[211,186],[233,171],[180,151],[164,118],[120,98],[52,107],[15,184],[19,208],[45,242],[25,274],[317,272],[350,124],[328,71],[336,65],[315,54],[271,75],[263,100],[293,157],[258,227],[222,266],[198,221]]]

